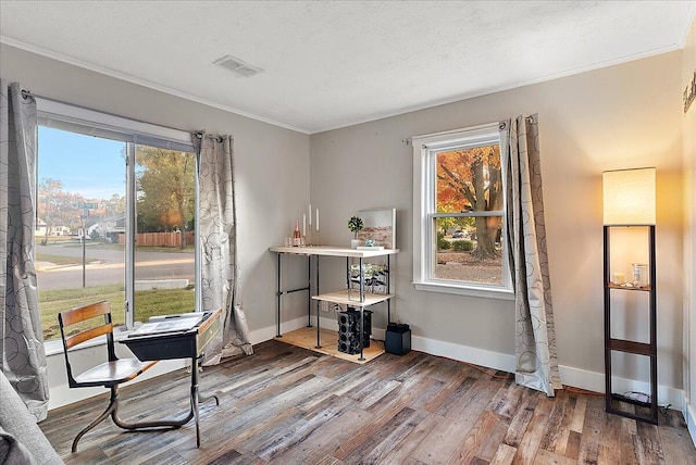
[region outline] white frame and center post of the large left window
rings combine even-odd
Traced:
[[[172,149],[196,153],[190,133],[159,126],[150,123],[142,123],[135,120],[125,118],[96,110],[86,109],[59,102],[46,98],[37,98],[37,120],[38,125],[57,128],[61,130],[83,134],[87,136],[100,137],[122,141],[126,144],[126,246],[124,250],[125,262],[125,330],[119,334],[127,334],[135,327],[135,312],[133,309],[135,296],[135,234],[136,234],[136,176],[135,176],[135,146],[152,146],[162,149]],[[40,161],[39,161],[40,163]],[[196,312],[202,309],[202,297],[200,289],[200,225],[198,212],[198,167],[196,169],[196,234],[195,234],[195,304]],[[37,173],[38,175],[38,173]],[[38,183],[37,183],[38,186]],[[47,341],[53,349],[55,341]],[[60,342],[60,341],[59,341]]]

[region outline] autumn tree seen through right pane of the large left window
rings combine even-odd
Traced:
[[[137,146],[138,229],[181,230],[182,248],[194,221],[195,169],[192,153]]]

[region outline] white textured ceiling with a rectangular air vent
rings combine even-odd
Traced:
[[[0,41],[316,133],[680,49],[696,1],[8,1]],[[213,64],[234,55],[263,73]]]

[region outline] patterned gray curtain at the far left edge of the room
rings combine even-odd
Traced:
[[[0,369],[37,420],[48,414],[34,230],[36,101],[0,79]]]

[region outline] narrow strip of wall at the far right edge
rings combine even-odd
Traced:
[[[681,90],[696,72],[696,22],[682,52]],[[684,390],[692,439],[696,442],[696,102],[682,117],[684,134]]]

